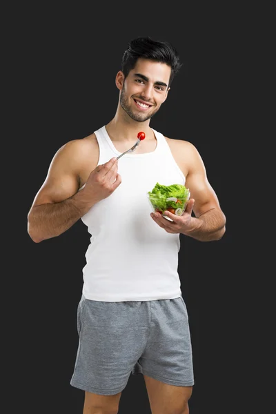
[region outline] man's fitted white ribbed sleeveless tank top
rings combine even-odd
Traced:
[[[83,267],[83,296],[103,302],[174,299],[181,296],[177,271],[179,234],[150,217],[146,196],[155,184],[185,184],[185,176],[160,132],[154,151],[130,152],[118,161],[121,184],[81,217],[90,233]],[[99,164],[121,154],[106,127],[95,131]],[[143,145],[143,141],[139,145]]]

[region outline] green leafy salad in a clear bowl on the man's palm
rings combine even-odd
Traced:
[[[181,184],[162,186],[157,182],[152,191],[148,191],[148,199],[153,209],[161,214],[168,210],[175,215],[182,215],[189,197],[189,189]]]

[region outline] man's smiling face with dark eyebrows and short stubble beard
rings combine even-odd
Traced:
[[[121,89],[120,103],[130,118],[144,122],[153,117],[166,100],[170,66],[138,59]]]

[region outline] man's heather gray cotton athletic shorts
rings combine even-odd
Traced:
[[[130,374],[192,386],[193,357],[184,299],[100,302],[83,295],[77,308],[79,346],[70,385],[114,395]]]

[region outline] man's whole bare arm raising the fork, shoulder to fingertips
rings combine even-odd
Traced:
[[[76,140],[61,147],[52,159],[48,175],[28,213],[28,234],[36,243],[57,237],[76,223],[100,199],[120,184],[117,162],[108,161],[93,170],[86,186],[79,190],[83,144]]]

